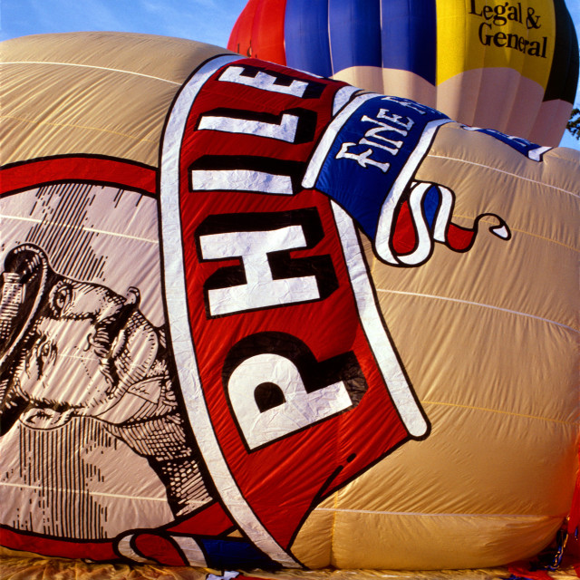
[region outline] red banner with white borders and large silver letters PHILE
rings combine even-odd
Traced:
[[[275,561],[309,510],[429,425],[353,220],[301,185],[354,89],[219,57],[163,139],[170,344],[189,422],[233,521]]]

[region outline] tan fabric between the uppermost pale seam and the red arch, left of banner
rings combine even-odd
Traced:
[[[169,104],[177,85],[59,64],[12,64],[3,68],[5,91],[30,91],[24,101],[3,104],[3,126],[14,135],[2,147],[3,163],[21,159],[23,150],[34,157],[60,150],[65,154],[112,154],[151,165],[157,162],[156,145],[163,125],[159,103]],[[38,92],[36,87],[22,87],[22,75],[31,69],[43,74],[47,93],[58,95],[60,106],[48,104],[47,93]],[[147,89],[142,91],[144,87]],[[128,92],[135,97],[121,111],[116,103]],[[72,106],[79,93],[83,94],[87,111]],[[101,109],[102,106],[106,108]],[[146,116],[141,118],[143,113]],[[24,127],[34,127],[34,136]]]

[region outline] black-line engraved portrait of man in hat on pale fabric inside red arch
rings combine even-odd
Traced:
[[[0,485],[30,495],[1,523],[98,538],[141,510],[163,524],[203,505],[168,368],[155,200],[57,184],[1,204]]]

